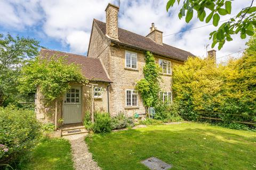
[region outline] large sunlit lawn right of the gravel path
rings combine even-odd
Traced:
[[[129,129],[86,139],[102,169],[148,169],[157,157],[172,169],[256,169],[256,133],[200,123]]]

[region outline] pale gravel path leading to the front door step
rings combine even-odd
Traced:
[[[70,141],[74,166],[76,170],[100,170],[92,159],[92,154],[84,141],[85,135],[70,135],[65,137]]]

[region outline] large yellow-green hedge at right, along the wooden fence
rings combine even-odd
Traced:
[[[244,55],[218,67],[211,60],[189,58],[174,67],[173,90],[181,116],[217,117],[224,122],[256,122],[256,41],[253,36]]]

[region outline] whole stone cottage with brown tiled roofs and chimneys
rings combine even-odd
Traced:
[[[171,101],[172,67],[182,64],[189,56],[194,56],[185,50],[164,44],[163,32],[154,23],[148,35],[141,36],[118,28],[118,6],[108,4],[105,11],[106,23],[93,20],[87,57],[49,49],[41,50],[42,57],[65,55],[69,63],[81,64],[82,73],[90,80],[89,84],[71,84],[70,91],[63,95],[58,114],[58,120],[63,120],[62,124],[82,122],[85,112],[90,111],[91,107],[94,111],[104,111],[110,115],[119,112],[128,116],[145,114],[146,109],[134,86],[144,77],[142,70],[146,51],[154,54],[155,62],[162,68],[162,98]],[[87,102],[90,88],[93,88],[93,106]],[[46,111],[39,88],[36,111],[37,117],[42,121],[52,120],[46,116],[49,111]]]

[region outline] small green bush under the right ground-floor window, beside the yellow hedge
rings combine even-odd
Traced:
[[[155,112],[156,114],[154,118],[157,120],[163,122],[182,121],[182,118],[178,113],[177,105],[160,102],[155,106]]]

